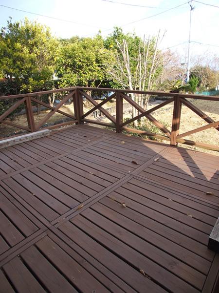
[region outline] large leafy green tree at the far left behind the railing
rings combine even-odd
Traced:
[[[58,42],[36,21],[12,22],[0,30],[1,75],[25,93],[51,87]]]

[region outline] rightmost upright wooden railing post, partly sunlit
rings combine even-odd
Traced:
[[[179,134],[180,129],[180,118],[181,118],[181,108],[182,102],[180,97],[174,97],[174,106],[173,106],[173,120],[172,120],[172,130],[170,137],[170,145],[177,146],[177,135]]]

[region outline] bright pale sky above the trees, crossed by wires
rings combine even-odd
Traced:
[[[112,31],[113,26],[122,26],[125,32],[135,32],[140,36],[156,35],[161,29],[164,34],[160,48],[174,46],[180,53],[186,54],[188,28],[189,28],[189,4],[167,11],[156,17],[143,21],[143,18],[163,12],[168,8],[186,2],[183,0],[112,0],[130,4],[148,5],[158,8],[134,7],[104,0],[0,0],[0,4],[31,11],[42,15],[65,19],[72,22],[52,20],[29,13],[0,7],[0,26],[5,26],[11,16],[14,21],[28,17],[37,20],[51,28],[52,33],[61,38],[69,38],[74,35],[86,37],[94,36],[98,30],[106,36]],[[219,0],[201,0],[219,6]],[[193,2],[195,9],[192,13],[191,40],[198,43],[191,44],[192,54],[201,54],[208,51],[219,55],[219,8],[206,6]],[[137,21],[127,24],[132,21]],[[179,43],[182,45],[175,46]]]

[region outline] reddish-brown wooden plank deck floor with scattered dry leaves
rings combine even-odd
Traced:
[[[0,292],[217,291],[219,157],[78,125],[0,159]]]

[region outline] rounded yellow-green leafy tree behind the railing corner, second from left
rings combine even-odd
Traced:
[[[101,36],[67,42],[56,58],[59,85],[98,86],[109,79],[107,67],[113,59]]]

